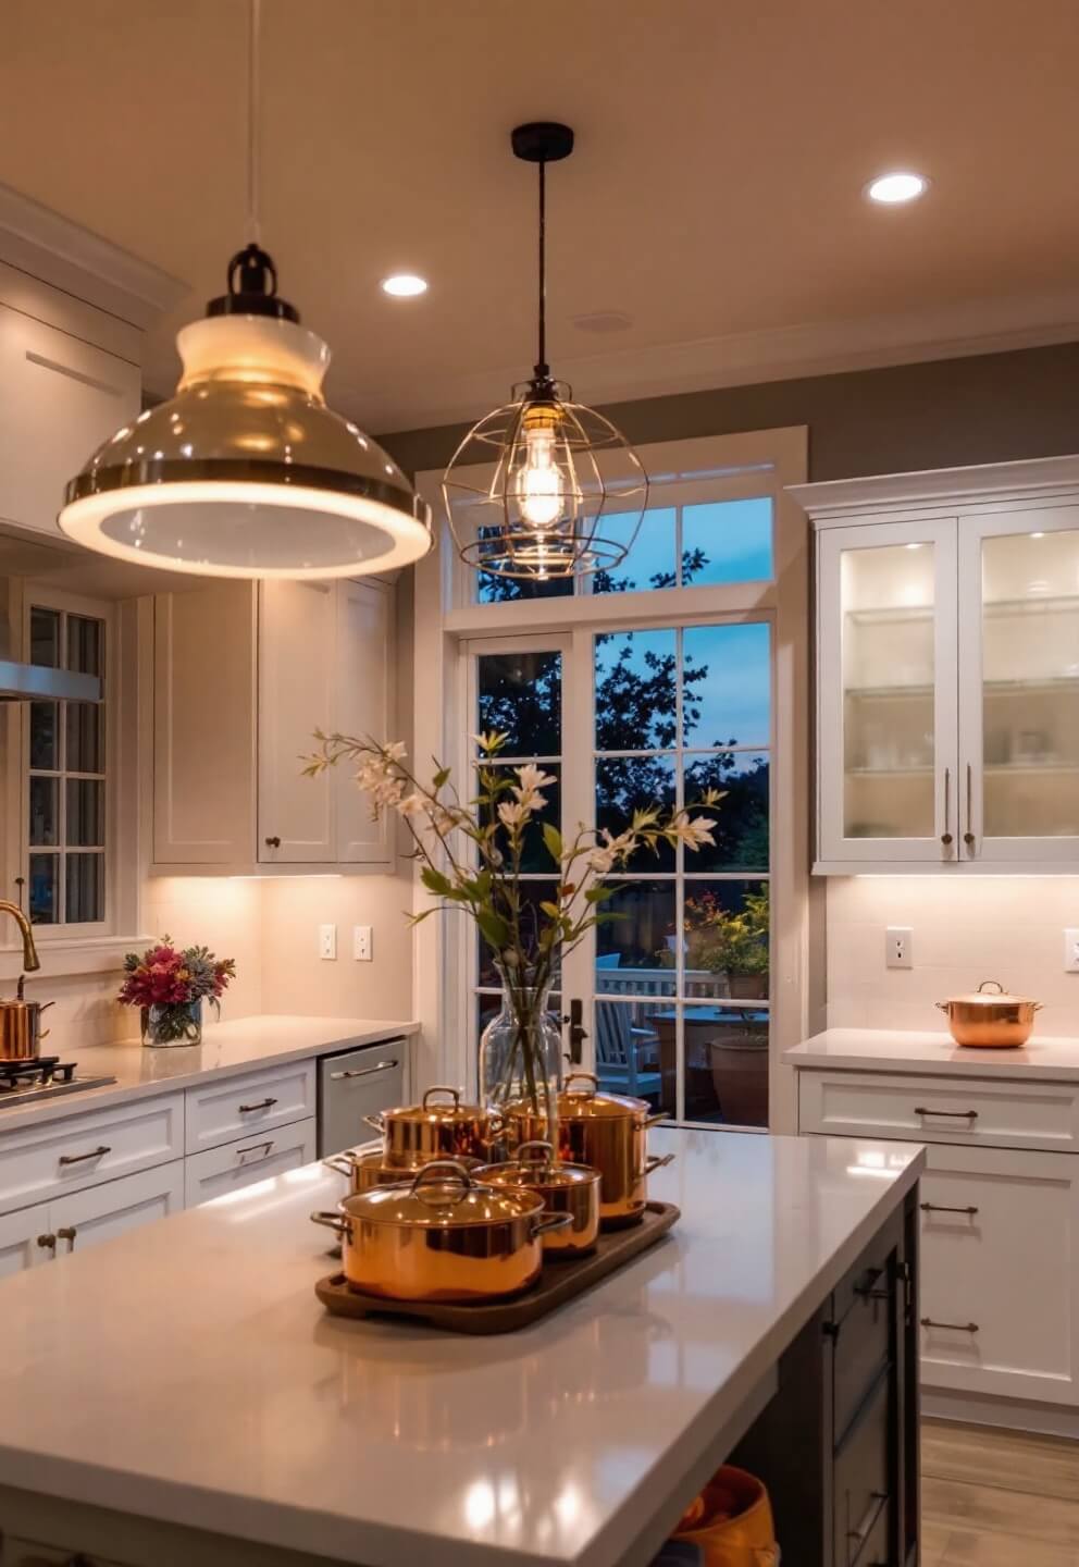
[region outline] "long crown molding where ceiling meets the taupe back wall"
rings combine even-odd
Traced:
[[[680,392],[880,370],[1076,340],[1079,290],[1063,290],[958,301],[899,315],[731,332],[586,357],[558,354],[554,370],[559,379],[572,382],[581,401],[609,406]],[[399,434],[470,423],[485,409],[507,401],[509,387],[520,378],[520,364],[465,375],[454,370],[451,382],[435,384],[432,395],[417,400],[417,376],[409,373],[399,381],[381,384],[377,406],[357,389],[338,385],[338,395],[341,401],[348,398],[359,406],[366,404],[368,423],[374,422],[384,434]]]

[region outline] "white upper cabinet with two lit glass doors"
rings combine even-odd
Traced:
[[[817,871],[1079,870],[1079,459],[794,490]]]

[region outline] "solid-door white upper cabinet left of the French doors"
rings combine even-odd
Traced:
[[[309,779],[315,730],[393,738],[393,588],[215,581],[155,600],[153,870],[393,862],[352,768]]]

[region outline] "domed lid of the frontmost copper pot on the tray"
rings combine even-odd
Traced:
[[[523,1188],[484,1186],[457,1160],[432,1160],[412,1180],[345,1197],[338,1208],[352,1219],[406,1229],[459,1229],[504,1224],[539,1213],[543,1199]]]

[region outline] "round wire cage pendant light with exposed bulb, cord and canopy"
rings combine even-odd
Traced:
[[[625,436],[547,364],[547,165],[573,150],[568,125],[518,125],[512,149],[539,165],[539,351],[514,401],[457,447],[442,494],[457,552],[496,577],[547,581],[611,570],[630,553],[648,478]]]

